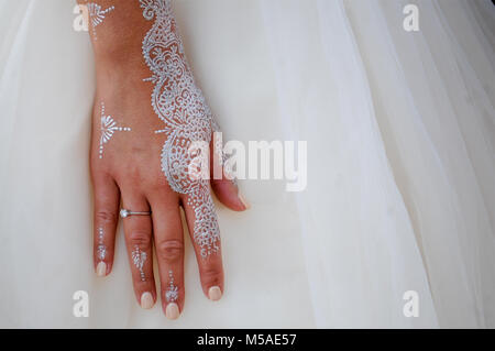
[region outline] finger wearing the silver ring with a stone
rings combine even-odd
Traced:
[[[122,190],[124,209],[145,212],[150,206],[143,195]],[[132,283],[138,303],[150,309],[156,301],[155,279],[153,276],[152,219],[151,216],[129,216],[122,219],[131,264]]]

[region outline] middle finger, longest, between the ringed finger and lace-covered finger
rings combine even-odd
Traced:
[[[168,319],[177,319],[184,308],[184,232],[177,196],[161,194],[150,198],[153,233],[158,262],[162,307]],[[166,200],[173,199],[173,200]]]

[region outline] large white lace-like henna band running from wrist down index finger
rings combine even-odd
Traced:
[[[200,166],[198,155],[189,151],[197,142],[209,145],[213,119],[186,62],[170,1],[140,0],[140,3],[143,17],[148,21],[155,19],[142,48],[153,74],[144,79],[154,84],[152,107],[165,124],[156,133],[168,135],[162,150],[162,171],[174,191],[187,195],[187,202],[196,215],[194,240],[201,256],[207,257],[219,250],[220,231],[209,180],[190,176],[190,168]],[[201,172],[205,169],[199,169]]]

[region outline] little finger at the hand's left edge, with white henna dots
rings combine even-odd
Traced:
[[[98,276],[106,276],[113,265],[120,194],[110,176],[94,177],[94,265]]]

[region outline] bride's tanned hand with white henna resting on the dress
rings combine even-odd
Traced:
[[[195,145],[211,144],[216,124],[186,62],[168,1],[141,3],[139,13],[144,18],[135,18],[135,24],[142,29],[142,45],[138,46],[142,51],[136,52],[134,44],[117,42],[112,51],[106,52],[101,45],[112,42],[108,36],[112,33],[98,32],[98,40],[92,37],[97,54],[90,156],[95,267],[100,276],[111,272],[120,202],[131,211],[151,211],[151,216],[123,219],[134,290],[143,308],[156,301],[154,243],[163,308],[168,318],[175,319],[185,299],[180,207],[195,246],[204,293],[218,300],[224,283],[210,189],[233,210],[242,211],[248,206],[222,172],[223,177],[211,182],[197,176],[209,174],[202,162],[209,151]],[[122,4],[125,7],[128,12],[122,15],[129,17],[131,10],[135,14],[135,4]],[[129,42],[135,42],[139,33],[132,26]],[[213,163],[211,169],[221,169],[221,157],[209,160]]]

